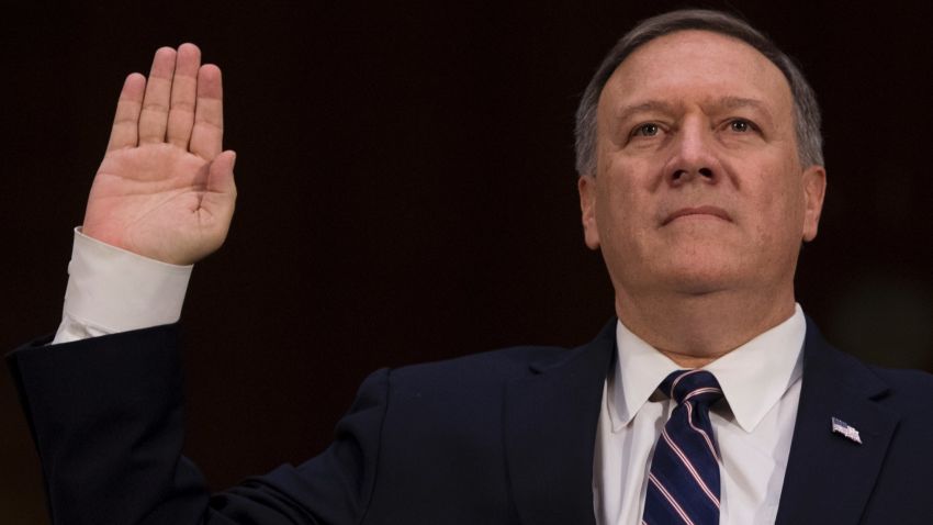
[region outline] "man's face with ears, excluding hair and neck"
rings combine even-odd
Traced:
[[[683,31],[626,58],[599,99],[596,176],[580,179],[586,244],[618,300],[793,293],[825,187],[794,124],[784,75],[738,40]]]

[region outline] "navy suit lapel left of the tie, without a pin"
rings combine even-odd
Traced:
[[[510,382],[504,420],[508,474],[526,524],[595,524],[593,454],[616,322],[588,345]]]

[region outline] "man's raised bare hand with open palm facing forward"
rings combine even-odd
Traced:
[[[193,44],[156,52],[126,78],[83,233],[165,262],[217,249],[233,217],[235,154],[222,152],[221,70]]]

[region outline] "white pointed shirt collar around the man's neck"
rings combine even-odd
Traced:
[[[710,362],[739,426],[752,432],[765,414],[800,379],[800,350],[807,322],[799,304],[779,325]],[[609,377],[607,403],[612,432],[619,432],[638,414],[676,362],[655,350],[622,324],[616,325],[619,358]]]

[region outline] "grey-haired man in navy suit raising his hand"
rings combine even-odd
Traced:
[[[581,103],[584,234],[618,321],[571,350],[375,372],[321,456],[209,500],[180,456],[168,323],[232,216],[222,124],[220,71],[192,45],[123,88],[55,344],[11,358],[56,523],[933,518],[933,380],[838,353],[795,303],[819,112],[743,22],[642,22]]]

